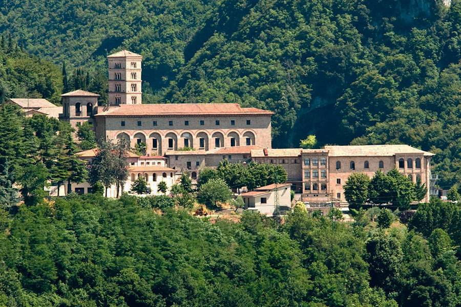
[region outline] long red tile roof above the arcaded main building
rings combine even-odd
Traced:
[[[95,116],[227,116],[273,115],[273,112],[255,107],[241,107],[238,103],[156,103],[120,105]]]

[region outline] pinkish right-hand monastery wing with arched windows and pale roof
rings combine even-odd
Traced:
[[[296,150],[299,155],[296,156]],[[325,146],[323,149],[252,150],[258,163],[282,165],[298,198],[304,202],[345,202],[343,185],[354,172],[370,178],[381,169],[401,171],[414,183],[418,178],[429,187],[433,153],[408,145]],[[298,164],[297,158],[301,160]],[[424,201],[429,200],[428,193]]]

